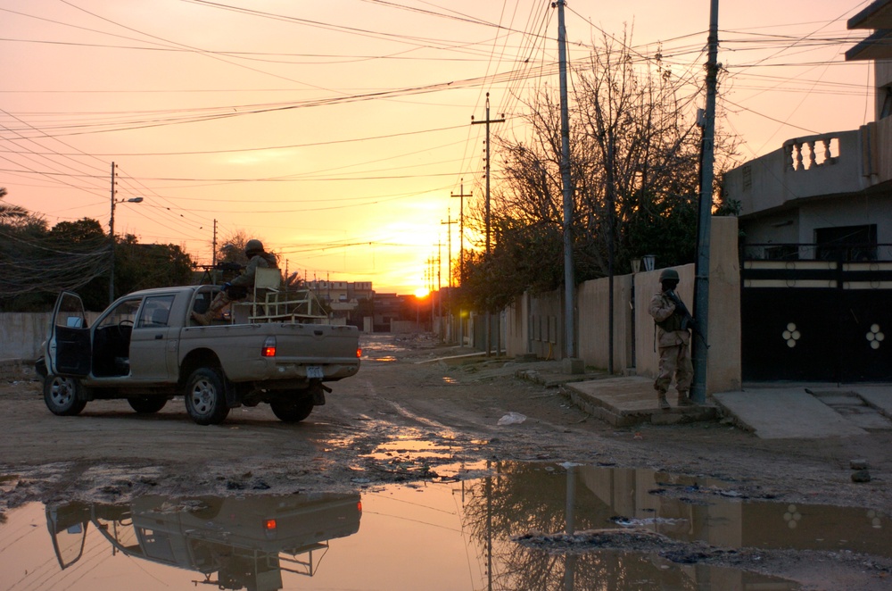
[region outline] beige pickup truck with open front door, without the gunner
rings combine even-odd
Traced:
[[[88,401],[126,398],[158,412],[175,395],[200,425],[226,420],[240,405],[267,403],[296,422],[325,404],[325,382],[359,371],[359,329],[301,321],[199,326],[219,286],[161,287],[120,297],[87,326],[77,294],[56,300],[44,357],[44,401],[76,415]]]

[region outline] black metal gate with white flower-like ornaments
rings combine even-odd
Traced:
[[[892,262],[744,261],[741,276],[744,380],[892,381]]]

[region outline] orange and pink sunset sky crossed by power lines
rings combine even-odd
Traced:
[[[871,64],[844,59],[868,4],[721,3],[717,124],[741,159],[872,120]],[[642,58],[702,79],[708,11],[568,2],[571,62],[627,27]],[[430,282],[439,244],[445,286],[450,194],[464,179],[483,197],[471,117],[489,92],[493,132],[524,137],[524,99],[558,83],[557,35],[547,0],[0,0],[0,187],[50,225],[107,229],[115,162],[118,198],[144,197],[117,206],[118,234],[210,263],[216,220],[289,271],[401,294]]]

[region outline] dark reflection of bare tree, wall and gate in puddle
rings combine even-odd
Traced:
[[[639,552],[631,535],[625,541],[614,536],[613,550],[591,545],[549,548],[548,540],[562,537],[562,532],[635,528],[723,548],[845,549],[892,555],[888,516],[870,509],[742,501],[728,483],[654,470],[524,463],[494,468],[495,476],[465,490],[465,515],[478,543],[494,554],[489,561],[511,565],[496,575],[496,588],[625,589],[648,588],[660,581],[669,588],[718,591],[753,588],[762,580],[743,570],[695,564],[696,553],[654,552],[653,541],[659,539],[654,537],[643,537],[648,544],[637,547]],[[666,495],[673,487],[681,495],[706,493],[706,502]],[[532,537],[541,534],[544,543],[503,542],[531,537],[530,532]],[[666,558],[691,563],[666,570]],[[635,587],[632,580],[648,584]],[[797,586],[775,580],[771,588]]]

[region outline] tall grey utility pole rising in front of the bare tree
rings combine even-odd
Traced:
[[[570,178],[570,114],[566,97],[566,27],[564,5],[558,8],[558,61],[560,66],[560,178],[564,189],[564,325],[566,357],[576,356],[576,275],[573,262],[573,180]]]

